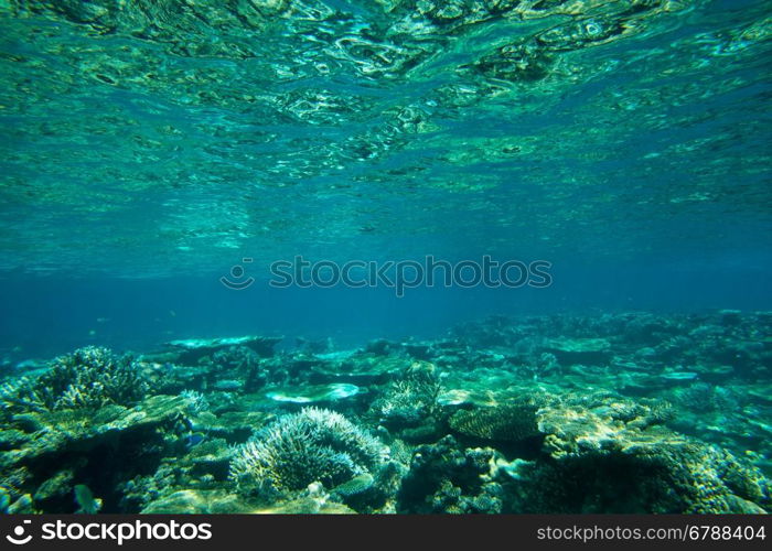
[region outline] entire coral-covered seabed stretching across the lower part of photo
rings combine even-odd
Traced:
[[[0,390],[6,512],[769,512],[772,314],[493,317],[360,349],[86,347]]]

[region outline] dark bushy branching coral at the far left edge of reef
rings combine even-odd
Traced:
[[[147,391],[148,381],[129,356],[87,346],[54,359],[37,378],[4,385],[0,402],[10,413],[96,409],[110,403],[132,406]]]

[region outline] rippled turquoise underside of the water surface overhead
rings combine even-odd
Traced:
[[[3,269],[770,242],[768,1],[0,9]]]

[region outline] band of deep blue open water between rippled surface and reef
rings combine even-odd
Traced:
[[[235,291],[219,282],[228,269],[207,278],[139,281],[7,278],[0,290],[8,312],[0,320],[0,347],[8,361],[51,357],[85,344],[142,350],[175,338],[240,334],[283,335],[288,343],[332,337],[349,347],[379,337],[435,338],[491,314],[772,309],[772,266],[750,255],[597,266],[557,258],[547,289],[421,285],[403,298],[385,285],[272,289],[265,268],[264,279]]]

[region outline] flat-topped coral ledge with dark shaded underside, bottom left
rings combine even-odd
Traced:
[[[29,496],[30,511],[75,512],[78,484],[115,507],[116,484],[179,447],[185,410],[180,397],[153,396],[131,409],[14,414],[0,433],[0,486],[13,499]]]

